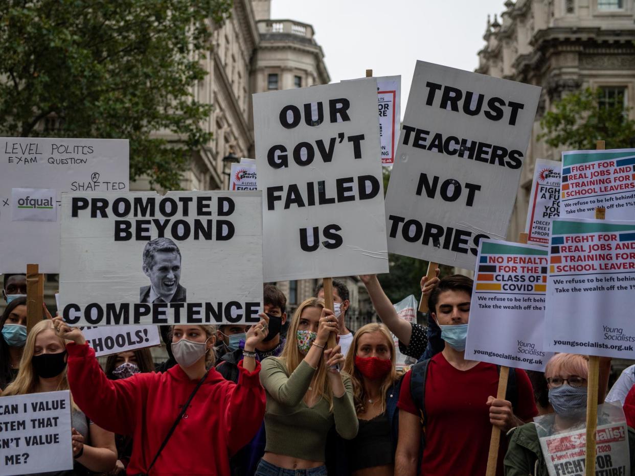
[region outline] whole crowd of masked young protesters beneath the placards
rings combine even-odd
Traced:
[[[2,395],[70,390],[74,468],[56,475],[485,475],[492,425],[502,432],[498,475],[547,475],[533,418],[587,404],[587,357],[556,354],[545,373],[465,359],[472,280],[422,278],[427,326],[400,319],[375,275],[361,276],[381,323],[345,327],[349,291],[333,281],[286,314],[264,286],[253,326],[161,326],[168,359],[148,348],[110,355],[104,369],[61,317],[27,333],[26,278],[4,275]],[[418,360],[396,367],[396,348]],[[335,345],[329,345],[335,336]],[[610,359],[601,365],[605,401]],[[606,401],[635,426],[635,366]],[[635,475],[635,430],[628,439]],[[47,473],[48,474],[48,473]]]

